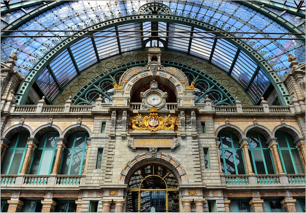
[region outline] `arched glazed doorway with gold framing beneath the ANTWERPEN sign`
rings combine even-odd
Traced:
[[[178,212],[178,182],[163,165],[150,164],[137,169],[129,181],[127,212]]]

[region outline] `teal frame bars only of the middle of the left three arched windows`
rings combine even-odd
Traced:
[[[54,148],[46,148],[47,140],[49,138],[49,133],[57,133]],[[42,153],[41,153],[41,158],[40,158],[39,166],[38,166],[38,169],[37,169],[37,173],[34,174],[34,175],[49,175],[49,174],[51,174],[51,169],[52,169],[53,163],[54,163],[54,156],[56,155],[56,152],[57,152],[57,149],[58,149],[58,147],[57,147],[58,139],[59,139],[59,133],[57,131],[48,131],[47,132],[47,135],[46,135],[46,137],[44,138],[44,141],[43,141],[43,143],[44,143],[43,148],[38,148],[37,147],[34,151],[34,154],[33,154],[33,157],[32,157],[32,162],[31,162],[31,167],[30,167],[30,170],[29,170],[31,174],[32,174],[32,166],[33,166],[33,163],[34,163],[34,159],[35,159],[35,155],[36,155],[37,150],[42,150]],[[42,142],[40,141],[40,143],[42,143]],[[41,166],[46,166],[46,165],[42,165],[43,155],[44,155],[44,152],[46,150],[53,150],[52,162],[51,162],[48,173],[47,174],[42,174],[42,173],[40,173],[40,168],[41,168]]]

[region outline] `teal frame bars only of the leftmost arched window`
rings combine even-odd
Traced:
[[[20,161],[20,165],[19,165],[17,174],[19,174],[20,171],[21,171],[22,164],[23,164],[23,161],[24,161],[24,159],[25,159],[25,153],[26,153],[27,148],[28,148],[28,142],[29,142],[29,139],[28,139],[28,140],[27,140],[27,143],[26,143],[26,145],[25,145],[25,147],[17,147],[17,146],[18,146],[18,143],[19,143],[20,135],[21,135],[22,133],[28,133],[28,137],[30,137],[30,132],[28,132],[28,131],[20,131],[20,132],[16,133],[16,134],[18,134],[18,136],[17,136],[17,141],[16,141],[16,143],[15,143],[15,146],[14,146],[14,147],[10,147],[10,146],[9,146],[9,147],[6,149],[6,153],[5,153],[4,158],[3,158],[3,161],[2,161],[2,165],[4,165],[4,159],[6,159],[6,155],[8,154],[8,150],[13,150],[13,153],[11,154],[11,158],[10,158],[10,161],[9,161],[9,166],[8,166],[7,171],[6,171],[5,174],[12,174],[12,173],[9,173],[9,171],[10,171],[10,169],[11,169],[12,162],[13,162],[13,159],[14,159],[14,155],[15,155],[16,150],[23,150],[23,154],[22,154],[22,157],[21,157],[21,161]],[[13,136],[14,136],[14,135],[13,135]],[[12,137],[13,137],[13,136],[12,136]],[[11,138],[12,138],[12,137],[11,137]],[[11,143],[12,143],[12,142],[11,142]],[[2,171],[2,165],[1,165],[1,173],[4,174],[4,172]]]

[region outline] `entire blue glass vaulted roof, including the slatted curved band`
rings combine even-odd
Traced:
[[[60,5],[51,5],[46,10],[44,1],[40,3],[28,1],[33,4],[25,2],[27,1],[1,1],[1,29],[12,29],[9,26],[13,23],[15,29],[21,31],[6,33],[6,35],[25,36],[2,38],[1,60],[7,60],[10,54],[17,51],[17,71],[22,76],[28,75],[44,55],[60,45],[68,38],[67,36],[73,35],[75,32],[72,31],[84,30],[118,17],[137,15],[139,8],[148,3],[148,1],[66,1],[61,2]],[[298,3],[298,1],[263,1],[264,8],[270,10],[273,15],[267,15],[265,11],[248,7],[248,4],[254,4],[256,1],[250,3],[240,1],[156,2],[168,6],[173,16],[202,21],[215,26],[219,31],[234,32],[233,36],[239,37],[259,53],[281,78],[288,72],[288,53],[295,55],[298,62],[305,62],[305,41],[296,40],[303,36],[288,34],[305,32],[305,6],[303,7],[302,4],[297,11],[291,4]],[[283,7],[279,6],[280,2]],[[40,12],[41,8],[44,8],[44,12]],[[35,17],[26,22],[22,21],[21,17],[26,16],[29,11],[32,11],[31,14],[36,14]],[[286,24],[283,24],[284,22]],[[36,30],[36,32],[31,30]],[[101,59],[153,45],[152,39],[137,37],[153,36],[153,32],[120,32],[120,30],[172,31],[154,34],[157,36],[154,38],[154,43],[158,41],[159,47],[181,51],[220,67],[244,87],[255,102],[270,84],[271,79],[269,80],[264,70],[229,39],[203,38],[214,37],[217,34],[189,25],[169,23],[165,20],[141,21],[135,19],[134,23],[117,24],[103,29],[103,32],[93,32],[93,36],[102,37],[82,38],[49,61],[36,82],[50,102],[71,79]],[[256,34],[256,32],[261,34]],[[37,37],[32,38],[31,36]],[[169,37],[159,38],[161,36]],[[177,36],[180,37],[177,38]],[[289,40],[284,38],[289,38]],[[150,40],[151,42],[147,43]]]

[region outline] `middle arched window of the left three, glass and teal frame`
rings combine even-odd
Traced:
[[[50,131],[40,136],[39,144],[33,154],[30,174],[48,175],[52,172],[57,152],[58,132]]]

